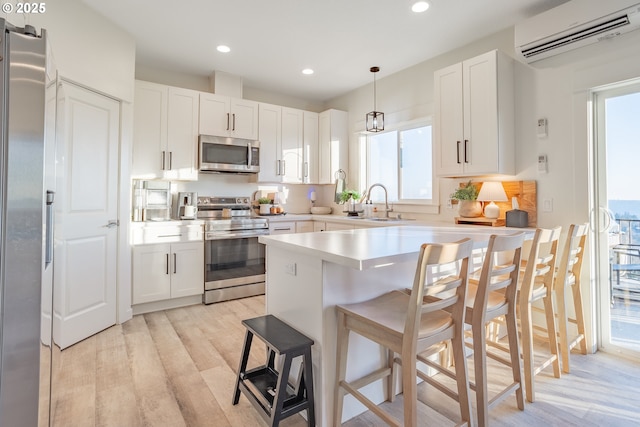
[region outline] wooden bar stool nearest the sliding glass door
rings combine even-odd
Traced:
[[[569,354],[572,348],[580,344],[580,352],[587,354],[580,276],[588,231],[588,223],[571,224],[555,279],[560,353],[562,354],[562,370],[566,373],[571,370]],[[569,289],[571,289],[575,317],[569,317],[567,313],[567,291]],[[576,325],[577,328],[577,333],[572,338],[569,337],[569,323]]]

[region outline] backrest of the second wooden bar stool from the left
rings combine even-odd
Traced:
[[[489,293],[493,291],[504,293],[505,302],[515,307],[513,304],[518,290],[523,242],[524,233],[522,232],[506,236],[494,234],[489,238],[489,246],[487,246],[478,281],[478,292],[473,303],[472,325],[484,325]]]

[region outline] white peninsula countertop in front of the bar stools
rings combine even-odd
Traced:
[[[358,221],[358,220],[351,220]],[[415,222],[415,221],[414,221]],[[478,226],[389,226],[321,233],[260,236],[267,246],[293,250],[357,270],[415,259],[423,243],[447,243],[469,237],[475,248],[487,245],[492,234],[526,231]],[[532,230],[528,230],[530,234]]]

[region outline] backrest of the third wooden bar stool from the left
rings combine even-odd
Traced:
[[[536,229],[531,241],[531,251],[527,258],[522,283],[520,283],[520,302],[522,304],[531,300],[536,283],[544,283],[549,289],[552,288],[561,232],[562,227]]]

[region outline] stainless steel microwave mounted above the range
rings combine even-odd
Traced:
[[[200,172],[260,172],[260,141],[200,135]]]

